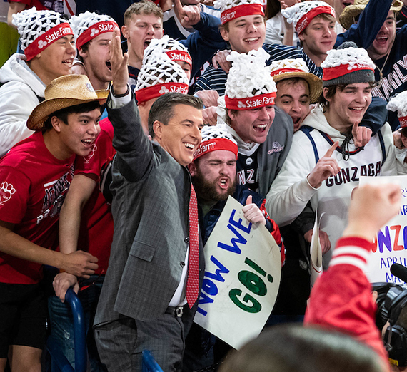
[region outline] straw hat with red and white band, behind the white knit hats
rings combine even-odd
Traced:
[[[309,86],[311,103],[316,103],[322,94],[322,80],[313,73],[309,73],[308,66],[302,58],[282,59],[273,61],[270,65],[273,81],[283,81],[291,78],[303,78]]]

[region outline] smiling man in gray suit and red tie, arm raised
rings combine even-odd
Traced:
[[[141,371],[144,349],[164,371],[181,371],[184,334],[204,274],[197,225],[196,239],[190,235],[194,190],[186,169],[201,142],[202,103],[179,93],[158,98],[149,115],[151,142],[127,86],[127,58],[115,32],[108,100],[117,151],[111,184],[114,238],[94,321],[96,345],[109,372]],[[199,261],[191,253],[195,246]]]

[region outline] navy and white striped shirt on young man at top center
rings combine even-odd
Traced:
[[[309,72],[322,78],[322,68],[315,66],[313,61],[311,61],[306,53],[300,48],[296,48],[295,46],[264,43],[263,49],[271,55],[271,58],[267,61],[267,65],[270,65],[273,61],[286,58],[303,58],[309,68]],[[227,78],[228,74],[223,71],[222,68],[214,68],[211,65],[206,68],[204,75],[196,81],[194,92],[213,90],[217,91],[219,95],[224,95]]]

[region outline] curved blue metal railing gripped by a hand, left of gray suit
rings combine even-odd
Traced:
[[[75,341],[75,369],[66,359],[64,353],[58,348],[52,336],[46,341],[46,348],[51,355],[52,371],[61,372],[85,372],[86,371],[86,330],[84,309],[81,301],[72,288],[66,291],[65,301],[72,309],[74,318],[74,341]]]

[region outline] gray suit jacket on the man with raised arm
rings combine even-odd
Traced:
[[[95,326],[123,316],[151,321],[164,314],[189,246],[188,170],[144,135],[134,99],[108,112],[117,150],[111,183],[114,237]]]

